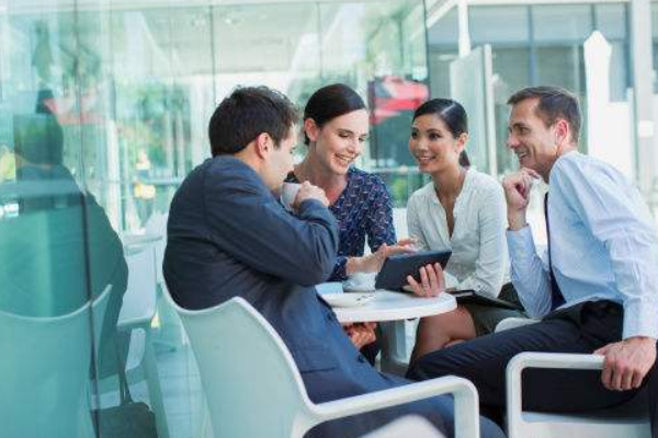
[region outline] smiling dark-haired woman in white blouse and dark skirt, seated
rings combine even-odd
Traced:
[[[449,99],[428,101],[413,113],[409,150],[432,182],[409,198],[409,234],[420,249],[452,251],[444,270],[447,288],[518,302],[511,285],[502,287],[508,270],[504,195],[494,177],[469,169],[467,124],[464,107]],[[411,358],[491,333],[510,316],[523,313],[465,304],[424,318]]]

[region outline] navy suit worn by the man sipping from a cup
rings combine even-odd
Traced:
[[[377,372],[354,348],[314,285],[333,269],[338,228],[331,212],[306,200],[287,212],[259,175],[223,155],[197,166],[177,192],[169,215],[164,278],[188,309],[239,296],[281,335],[316,403],[407,383]],[[358,437],[395,417],[421,413],[452,435],[452,403],[417,402],[333,420],[309,437]]]

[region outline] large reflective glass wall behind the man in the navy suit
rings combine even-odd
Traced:
[[[404,206],[426,54],[419,0],[0,0],[0,435],[209,436],[159,269],[212,111],[345,82],[373,110],[361,165]]]

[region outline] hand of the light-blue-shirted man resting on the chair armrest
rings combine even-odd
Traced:
[[[639,388],[656,361],[656,339],[636,336],[608,344],[594,351],[605,356],[601,382],[613,391]]]

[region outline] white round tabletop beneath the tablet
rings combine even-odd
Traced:
[[[411,293],[377,290],[375,297],[363,306],[332,309],[338,321],[352,323],[405,321],[451,312],[456,308],[457,302],[450,293],[421,298]]]

